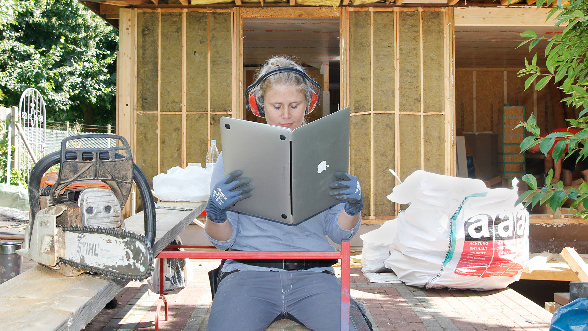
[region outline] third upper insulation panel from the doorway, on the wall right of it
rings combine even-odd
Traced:
[[[400,111],[420,112],[419,12],[399,12]]]

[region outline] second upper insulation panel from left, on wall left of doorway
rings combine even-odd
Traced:
[[[182,111],[182,13],[161,13],[161,111]],[[179,144],[178,144],[179,148]]]

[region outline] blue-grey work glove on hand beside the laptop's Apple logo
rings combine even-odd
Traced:
[[[363,208],[362,187],[359,185],[358,177],[337,171],[335,177],[340,180],[333,181],[329,184],[329,196],[337,200],[346,201],[345,213],[350,216],[359,214]]]

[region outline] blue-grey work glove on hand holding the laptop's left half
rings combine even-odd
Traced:
[[[226,221],[226,210],[235,206],[235,203],[251,196],[249,193],[253,186],[248,177],[241,177],[241,171],[235,170],[228,174],[212,190],[211,197],[206,204],[206,217],[215,223]]]

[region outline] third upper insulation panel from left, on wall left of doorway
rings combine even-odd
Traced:
[[[206,81],[208,75],[206,66],[208,57],[208,28],[206,27],[206,16],[206,12],[186,13],[187,111],[206,111],[208,107],[208,97],[206,94],[208,90],[208,82]],[[190,128],[190,125],[186,125],[186,127]],[[206,128],[203,132],[206,132]],[[188,149],[188,159],[190,158],[189,154]]]

